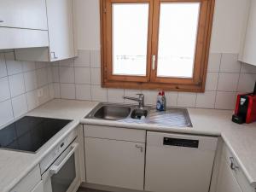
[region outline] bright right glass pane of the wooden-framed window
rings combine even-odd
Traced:
[[[200,3],[161,3],[158,77],[193,78]]]

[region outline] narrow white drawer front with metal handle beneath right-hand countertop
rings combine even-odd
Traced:
[[[224,145],[222,153],[223,153],[224,160],[226,160],[226,162],[229,166],[231,165],[230,158],[234,158],[234,162],[235,162],[235,165],[237,166],[237,168],[236,168],[236,170],[232,170],[232,171],[233,171],[233,175],[234,175],[234,177],[236,177],[236,181],[237,181],[237,183],[239,183],[242,191],[243,192],[255,192],[255,189],[253,189],[251,184],[248,182],[247,177],[242,172],[241,167],[238,165],[236,158],[230,152],[230,149],[226,145]]]

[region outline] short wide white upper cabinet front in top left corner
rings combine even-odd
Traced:
[[[45,0],[0,0],[0,27],[48,30]]]

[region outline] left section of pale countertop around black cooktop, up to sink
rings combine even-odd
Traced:
[[[30,116],[73,119],[73,122],[55,134],[49,142],[45,143],[38,150],[37,154],[0,149],[0,191],[9,192],[10,189],[15,187],[61,139],[66,137],[68,133],[79,125],[79,119],[84,118],[96,104],[97,102],[53,100],[32,110],[30,113],[26,113],[26,115]]]

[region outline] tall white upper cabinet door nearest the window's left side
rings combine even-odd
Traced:
[[[46,0],[50,61],[74,57],[72,0]]]

